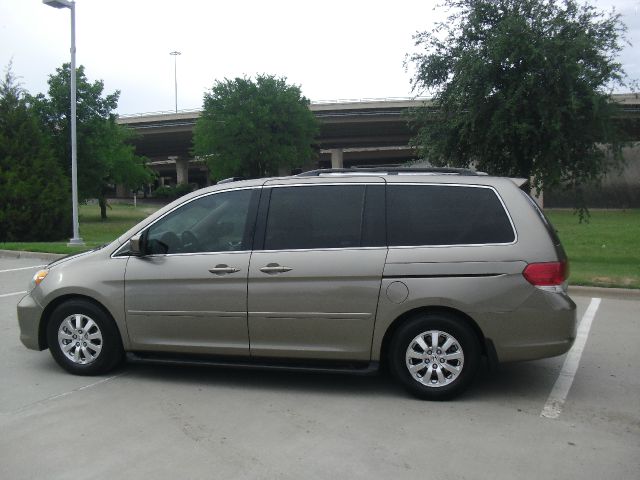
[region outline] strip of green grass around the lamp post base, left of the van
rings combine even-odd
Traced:
[[[140,220],[155,212],[158,207],[128,204],[113,204],[107,209],[107,220],[100,220],[98,205],[80,205],[78,220],[80,236],[85,241],[83,247],[68,247],[67,240],[62,242],[8,242],[0,243],[3,250],[26,250],[29,252],[76,253],[109,243],[129,230]]]

